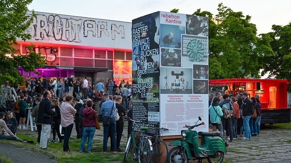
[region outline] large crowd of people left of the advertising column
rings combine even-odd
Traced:
[[[57,77],[54,77],[53,80],[45,76],[42,78],[27,77],[25,83],[26,87],[23,91],[18,92],[18,101],[13,105],[15,117],[13,113],[8,114],[7,126],[11,130],[11,132],[8,131],[9,134],[15,134],[19,129],[26,129],[25,122],[28,116],[26,108],[32,107],[31,116],[35,118],[38,146],[45,150],[49,142],[63,143],[63,151],[70,152],[69,140],[75,125],[76,138],[81,139],[79,152],[86,151],[84,146],[88,139],[87,152],[92,153],[95,116],[100,121],[102,121],[102,116],[110,116],[110,125],[104,125],[104,144],[101,153],[107,152],[109,137],[110,150],[113,153],[121,151],[122,117],[127,116],[125,111],[131,108],[129,82],[125,83],[122,80],[117,86],[115,81],[108,79],[107,83],[99,81],[94,87],[91,87],[86,77],[75,79],[71,75],[65,77],[63,81]],[[115,120],[115,109],[121,117],[117,121]],[[51,137],[51,132],[53,132],[53,137]],[[63,138],[61,133],[64,134]],[[23,141],[16,136],[9,139]]]

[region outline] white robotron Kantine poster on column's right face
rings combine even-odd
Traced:
[[[160,12],[160,127],[208,131],[208,18]]]

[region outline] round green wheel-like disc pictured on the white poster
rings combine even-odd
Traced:
[[[188,42],[186,52],[191,61],[200,61],[204,56],[204,45],[201,41],[193,39]]]

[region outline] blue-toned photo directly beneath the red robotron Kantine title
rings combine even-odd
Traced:
[[[161,24],[161,47],[181,48],[181,34],[185,34],[184,26]]]

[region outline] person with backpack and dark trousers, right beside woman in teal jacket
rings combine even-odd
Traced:
[[[232,134],[232,113],[233,113],[233,107],[232,104],[229,102],[229,95],[224,94],[222,96],[223,101],[219,104],[220,108],[222,109],[222,126],[223,131],[226,130],[226,136],[227,140],[230,142],[233,141],[233,134]]]

